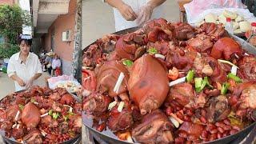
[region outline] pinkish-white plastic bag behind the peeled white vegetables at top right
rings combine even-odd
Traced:
[[[197,18],[203,11],[209,9],[222,9],[222,8],[246,8],[242,4],[242,0],[193,0],[190,3],[184,5],[188,22],[194,22],[194,18]]]

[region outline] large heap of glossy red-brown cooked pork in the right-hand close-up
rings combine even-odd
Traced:
[[[142,143],[210,142],[256,120],[256,58],[222,24],[154,19],[106,35],[83,55],[94,128]]]

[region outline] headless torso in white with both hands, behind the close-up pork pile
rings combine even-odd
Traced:
[[[114,8],[115,30],[142,26],[154,18],[162,18],[166,0],[103,0]]]

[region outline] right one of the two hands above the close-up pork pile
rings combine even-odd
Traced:
[[[140,11],[138,13],[138,18],[136,20],[138,26],[142,26],[145,22],[150,20],[153,10],[154,10],[154,7],[151,6],[149,3],[147,3],[145,6],[142,6],[140,8]]]

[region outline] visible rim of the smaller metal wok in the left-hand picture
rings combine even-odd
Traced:
[[[22,91],[24,91],[24,90],[17,91],[15,93],[21,93]],[[71,95],[74,97],[74,99],[77,102],[79,102],[79,103],[82,102],[81,99],[78,98],[77,96],[75,96],[74,94],[71,94]],[[2,101],[2,99],[0,99],[0,101]],[[7,144],[19,144],[20,143],[20,142],[17,142],[14,138],[6,138],[4,130],[0,130],[0,134],[2,135],[2,140],[4,142],[6,142]],[[78,134],[76,137],[74,137],[74,138],[72,138],[68,141],[62,142],[62,144],[70,144],[70,143],[77,143],[78,144],[81,141],[81,138],[82,138],[82,134]]]

